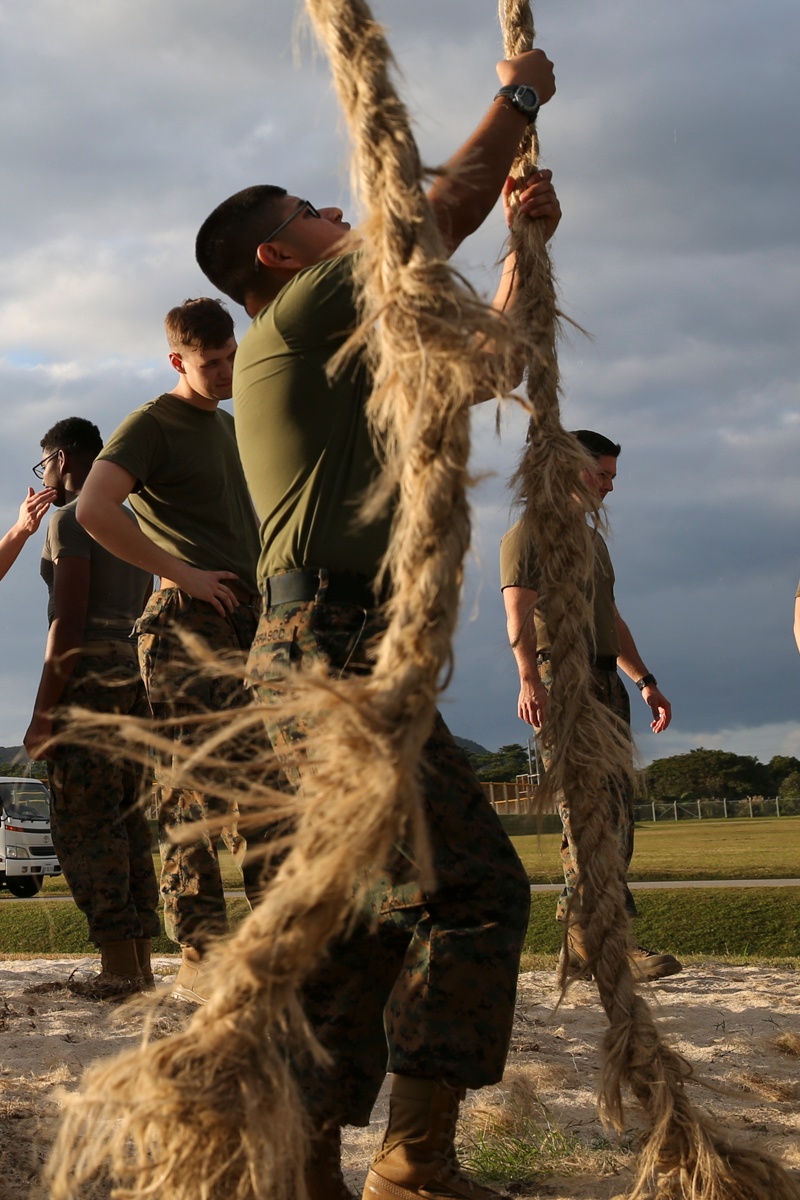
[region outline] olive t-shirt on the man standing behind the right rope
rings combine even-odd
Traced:
[[[620,646],[614,606],[614,568],[608,546],[596,529],[593,530],[593,539],[595,544],[594,650],[603,658],[616,658]],[[519,522],[512,526],[500,541],[500,587],[541,592],[536,547],[525,547]],[[549,650],[552,638],[539,604],[534,610],[534,625],[537,649]]]

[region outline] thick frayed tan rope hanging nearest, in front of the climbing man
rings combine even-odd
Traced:
[[[507,390],[480,348],[489,337],[501,348],[503,323],[446,264],[367,5],[308,0],[308,10],[369,211],[354,346],[363,340],[374,372],[369,418],[386,455],[385,491],[397,496],[389,628],[368,679],[319,671],[287,680],[282,712],[312,718],[315,768],[290,853],[223,949],[213,995],[188,1028],[88,1074],[53,1154],[54,1200],[83,1195],[103,1171],[131,1200],[302,1198],[303,1117],[290,1069],[314,1054],[302,984],[399,836],[431,880],[420,751],[450,662],[469,544],[467,408],[476,389]],[[276,803],[285,808],[285,797]]]

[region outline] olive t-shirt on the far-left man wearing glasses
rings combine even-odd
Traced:
[[[90,563],[89,605],[84,641],[107,638],[125,640],[131,636],[134,620],[142,616],[152,576],[138,566],[124,563],[104,550],[78,524],[76,508],[71,500],[49,520],[42,548],[41,575],[47,583],[47,619],[55,616],[54,564],[60,558],[85,558]],[[127,509],[125,515],[136,522]]]

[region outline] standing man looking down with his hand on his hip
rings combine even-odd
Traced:
[[[203,736],[192,718],[248,703],[236,678],[203,670],[181,634],[199,638],[218,659],[242,660],[259,612],[258,532],[233,418],[218,408],[230,397],[233,319],[218,300],[204,298],[170,310],[166,328],[178,384],[110,437],[86,480],[78,518],[101,545],[160,577],[137,624],[139,662],[154,716],[173,740],[191,743]],[[128,497],[140,528],[125,520]],[[236,758],[247,748],[234,743],[224,752]],[[237,812],[227,799],[161,787],[164,922],[182,954],[173,994],[193,1003],[206,998],[209,940],[228,929],[216,834],[187,839],[187,826],[204,820],[222,823],[227,840],[235,836]],[[253,901],[260,863],[252,851],[243,872]]]

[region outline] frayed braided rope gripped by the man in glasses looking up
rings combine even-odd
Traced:
[[[499,0],[499,13],[506,55],[530,49],[534,22],[528,0]],[[529,174],[537,152],[531,137],[515,175]],[[646,1003],[633,989],[625,954],[627,917],[619,887],[619,851],[610,828],[614,797],[608,786],[609,779],[626,769],[620,752],[627,756],[628,750],[613,728],[603,727],[588,686],[591,547],[573,500],[584,460],[560,425],[558,314],[547,248],[530,222],[516,223],[512,248],[523,287],[518,311],[531,334],[530,442],[516,487],[525,504],[523,527],[539,551],[542,595],[554,634],[554,682],[545,730],[553,755],[548,785],[570,805],[581,869],[581,920],[609,1021],[600,1108],[622,1128],[621,1086],[626,1084],[646,1114],[649,1129],[633,1200],[796,1200],[796,1184],[775,1159],[732,1145],[691,1104],[685,1090],[691,1067],[664,1044]],[[603,793],[609,804],[597,803]]]

